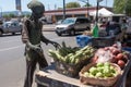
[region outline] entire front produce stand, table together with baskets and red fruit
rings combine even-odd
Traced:
[[[36,73],[38,87],[126,87],[131,70],[130,52],[118,50],[117,45],[80,49],[63,42],[61,49],[49,50],[49,55],[55,62]]]

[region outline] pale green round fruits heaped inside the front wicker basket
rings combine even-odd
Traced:
[[[85,77],[107,78],[117,76],[117,70],[110,65],[109,62],[97,63],[96,66],[92,66],[88,71],[84,72]]]

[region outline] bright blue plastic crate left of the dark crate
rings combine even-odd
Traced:
[[[85,47],[92,41],[92,37],[85,36],[85,35],[79,35],[76,36],[76,44],[79,47]]]

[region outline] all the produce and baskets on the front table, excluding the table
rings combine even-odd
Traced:
[[[82,84],[111,87],[130,59],[130,53],[121,50],[118,44],[96,50],[92,46],[72,48],[62,42],[58,50],[49,49],[49,55],[53,58],[58,73],[79,76]]]

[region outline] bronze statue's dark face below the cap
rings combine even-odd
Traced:
[[[36,7],[36,8],[33,9],[33,16],[35,18],[40,18],[43,16],[44,12],[45,11],[44,11],[43,8]]]

